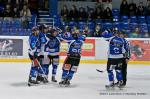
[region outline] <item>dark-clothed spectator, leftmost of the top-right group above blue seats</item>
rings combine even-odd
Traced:
[[[128,15],[129,8],[128,8],[128,2],[127,0],[122,0],[122,3],[120,5],[120,15]]]

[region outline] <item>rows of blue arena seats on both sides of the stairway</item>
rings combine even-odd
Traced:
[[[126,33],[133,32],[135,28],[139,27],[141,34],[150,32],[150,16],[120,16],[119,9],[113,9],[113,19],[112,22],[105,22],[103,19],[96,19],[91,21],[67,21],[63,22],[59,15],[55,15],[54,26],[60,27],[62,29],[65,26],[78,26],[80,31],[88,26],[91,32],[94,31],[95,26],[98,24],[101,26],[102,31],[106,29],[112,29],[117,27],[119,30],[126,30]],[[29,35],[31,28],[36,23],[36,14],[32,14],[31,20],[28,22],[28,27],[24,28],[22,26],[22,21],[20,19],[13,18],[0,18],[0,35]]]

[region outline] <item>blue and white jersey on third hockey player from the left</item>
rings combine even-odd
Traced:
[[[44,48],[46,55],[59,55],[60,52],[60,38],[59,37],[49,37],[49,40],[45,44]]]

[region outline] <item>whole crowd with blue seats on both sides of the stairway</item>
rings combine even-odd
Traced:
[[[59,14],[61,17],[54,17],[54,25],[62,29],[78,26],[81,32],[88,32],[89,37],[101,37],[102,32],[113,28],[125,32],[127,37],[150,37],[150,0],[146,5],[142,1],[136,4],[133,0],[130,3],[122,0],[120,9],[112,7],[112,0],[91,1],[95,2],[95,8],[72,5],[70,9],[64,5]],[[0,0],[0,32],[29,31],[33,26],[30,23],[36,21],[32,18],[38,16],[38,9],[46,9],[47,6],[48,0]],[[19,20],[11,22],[6,17]]]

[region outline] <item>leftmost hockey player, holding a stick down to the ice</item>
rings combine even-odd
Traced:
[[[29,36],[28,53],[29,53],[29,58],[32,61],[32,66],[31,66],[31,70],[30,70],[28,85],[39,84],[39,82],[37,81],[38,64],[35,61],[35,59],[37,58],[37,55],[35,52],[36,52],[36,49],[38,46],[38,35],[39,35],[38,27],[33,27],[32,34]]]

